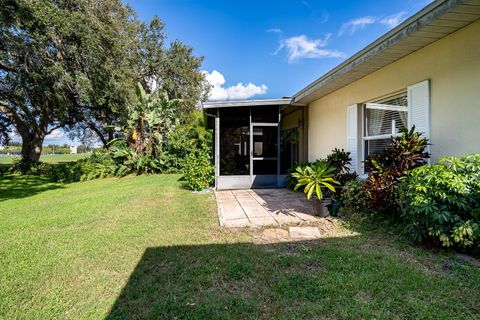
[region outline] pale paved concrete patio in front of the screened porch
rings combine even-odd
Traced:
[[[288,189],[216,191],[218,218],[224,227],[296,225],[318,221],[303,193]]]

